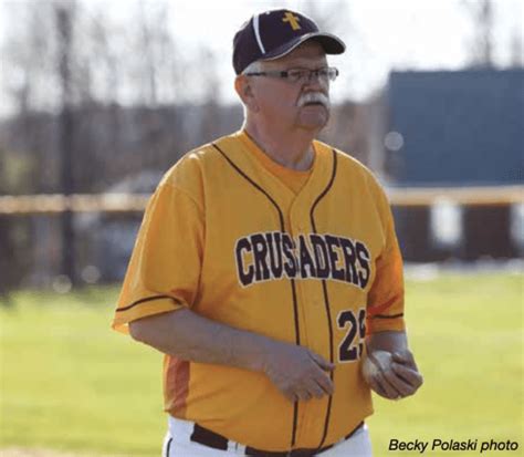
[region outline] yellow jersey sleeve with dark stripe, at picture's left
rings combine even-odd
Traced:
[[[150,198],[118,298],[113,329],[191,307],[200,278],[203,216],[187,191],[163,180]]]

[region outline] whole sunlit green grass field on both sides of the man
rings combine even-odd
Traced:
[[[0,455],[160,454],[161,356],[109,330],[116,294],[19,292],[0,307]],[[391,438],[479,440],[475,453],[425,453],[432,456],[480,455],[482,440],[511,439],[517,451],[483,455],[524,455],[522,277],[408,281],[407,303],[426,383],[416,397],[375,401],[375,456],[419,454],[389,451]]]

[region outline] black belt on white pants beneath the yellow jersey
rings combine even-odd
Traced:
[[[361,426],[364,422],[358,424],[348,435],[344,437],[344,440],[349,439]],[[229,439],[218,433],[211,432],[198,424],[195,424],[191,442],[199,443],[203,446],[212,447],[214,449],[228,450]],[[245,455],[252,457],[312,457],[317,454],[324,453],[324,450],[331,449],[335,445],[321,447],[317,449],[293,449],[284,451],[270,451],[255,449],[254,447],[247,446]]]

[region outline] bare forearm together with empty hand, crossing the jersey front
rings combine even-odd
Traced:
[[[290,401],[333,394],[335,365],[307,347],[233,329],[181,309],[129,324],[132,336],[165,354],[264,373]]]

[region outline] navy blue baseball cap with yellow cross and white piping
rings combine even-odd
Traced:
[[[321,32],[312,19],[298,12],[270,10],[255,14],[234,35],[234,72],[240,74],[259,60],[282,58],[307,40],[321,43],[326,54],[342,54],[346,50],[338,37]]]

